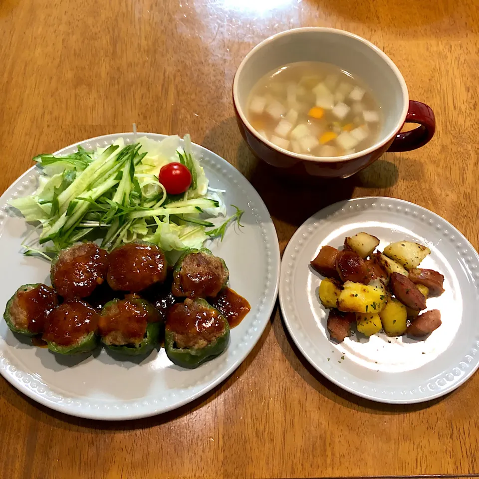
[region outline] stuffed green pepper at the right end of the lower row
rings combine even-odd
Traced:
[[[193,369],[228,346],[230,326],[205,299],[185,299],[168,311],[165,349],[171,362]]]

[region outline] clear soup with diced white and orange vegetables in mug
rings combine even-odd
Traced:
[[[289,63],[264,75],[248,98],[251,126],[275,145],[313,156],[349,155],[372,146],[381,107],[356,76],[330,63]]]

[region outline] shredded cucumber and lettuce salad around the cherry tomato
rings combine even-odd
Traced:
[[[189,135],[183,147],[177,135],[160,142],[143,137],[133,145],[120,138],[92,152],[78,147],[67,156],[33,160],[42,170],[37,191],[9,202],[26,221],[39,222],[38,244],[24,242],[25,254],[50,257],[87,238],[101,239],[107,250],[134,240],[166,251],[201,248],[207,238],[223,240],[231,221],[240,224],[243,212],[237,207],[222,225],[209,221],[226,216],[226,205],[221,191],[209,188]],[[158,181],[160,169],[175,161],[192,174],[182,195],[168,195]]]

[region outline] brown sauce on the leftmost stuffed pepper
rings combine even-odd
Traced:
[[[40,284],[29,291],[18,291],[16,301],[26,315],[27,329],[32,333],[42,333],[46,318],[58,304],[58,297],[53,289]]]

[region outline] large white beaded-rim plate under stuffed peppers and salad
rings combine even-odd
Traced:
[[[165,137],[151,133],[138,135],[154,140]],[[126,143],[133,141],[132,133],[105,135],[63,148],[57,154],[71,153],[77,145],[87,149],[106,146],[118,137]],[[210,185],[227,191],[227,205],[244,210],[241,219],[244,228],[232,226],[223,242],[207,243],[228,264],[231,287],[251,305],[249,314],[232,329],[226,352],[194,370],[173,365],[163,348],[133,361],[117,361],[104,349],[78,361],[20,342],[1,320],[0,373],[19,391],[73,416],[135,419],[170,411],[202,396],[227,378],[249,354],[266,327],[276,300],[280,266],[276,231],[266,206],[241,173],[206,148],[199,145],[193,148],[202,157]],[[21,284],[49,283],[49,263],[20,253],[22,238],[31,227],[7,210],[10,198],[35,190],[37,178],[36,168],[28,170],[0,198],[2,305]]]

